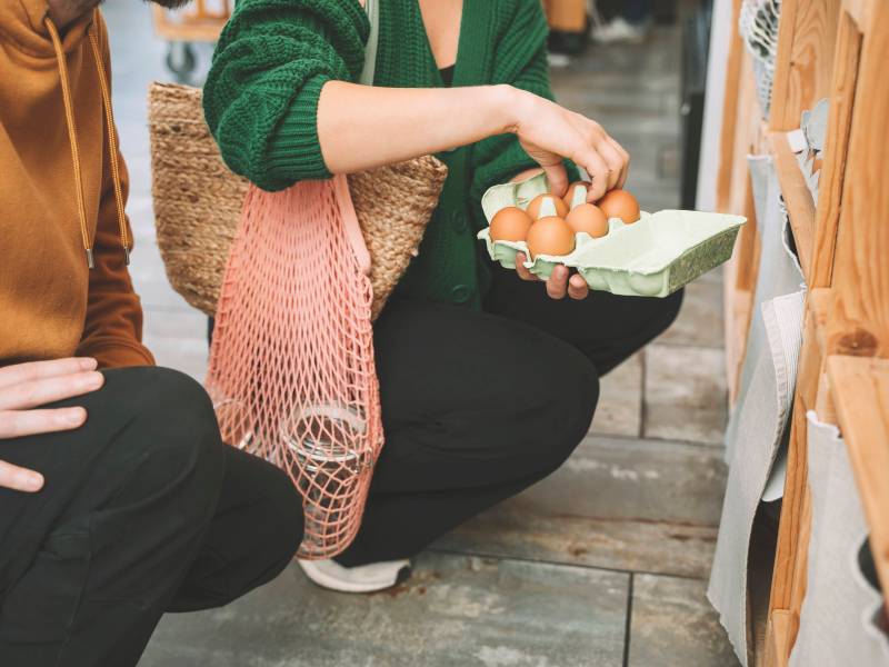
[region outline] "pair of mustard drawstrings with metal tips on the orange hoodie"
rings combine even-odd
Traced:
[[[64,118],[68,123],[68,139],[71,142],[71,160],[74,166],[74,188],[77,189],[77,209],[80,217],[80,236],[83,241],[83,250],[87,253],[87,265],[89,268],[96,267],[96,261],[92,252],[92,240],[89,236],[87,228],[87,206],[83,197],[83,177],[80,166],[80,147],[77,140],[77,122],[74,118],[73,104],[71,102],[71,83],[68,78],[68,63],[66,61],[64,49],[62,48],[61,39],[59,39],[59,31],[56,24],[47,17],[44,20],[49,36],[52,39],[52,46],[56,49],[56,60],[59,67],[59,78],[62,84],[62,101],[64,102]],[[127,218],[123,215],[123,188],[120,181],[120,163],[118,161],[118,140],[114,132],[114,117],[111,111],[111,96],[108,90],[108,81],[106,79],[104,64],[102,63],[102,54],[99,50],[99,40],[94,32],[96,20],[90,23],[88,34],[90,46],[92,47],[92,57],[96,61],[96,69],[99,72],[99,84],[102,91],[102,106],[104,107],[104,120],[108,127],[108,143],[110,151],[111,162],[111,180],[114,183],[114,203],[118,212],[118,227],[120,229],[120,243],[123,247],[123,260],[130,263],[130,242],[129,230],[127,228]]]

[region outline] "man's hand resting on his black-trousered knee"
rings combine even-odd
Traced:
[[[0,440],[82,426],[87,420],[83,408],[34,408],[99,389],[104,376],[96,366],[96,359],[57,359],[0,368]],[[0,487],[39,491],[43,476],[0,460]]]

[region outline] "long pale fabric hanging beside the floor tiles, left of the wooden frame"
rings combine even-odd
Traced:
[[[747,665],[747,568],[757,507],[788,424],[802,336],[805,286],[769,157],[749,157],[760,269],[738,402],[726,431],[729,477],[707,595]],[[782,486],[778,480],[777,486]]]

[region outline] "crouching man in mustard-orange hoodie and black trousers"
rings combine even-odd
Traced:
[[[98,3],[0,2],[3,667],[136,665],[164,611],[271,580],[302,536],[287,476],[140,342]]]

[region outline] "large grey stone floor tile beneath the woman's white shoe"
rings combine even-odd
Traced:
[[[170,615],[140,667],[615,667],[629,577],[424,554],[376,595],[316,588],[293,565],[223,609]]]

